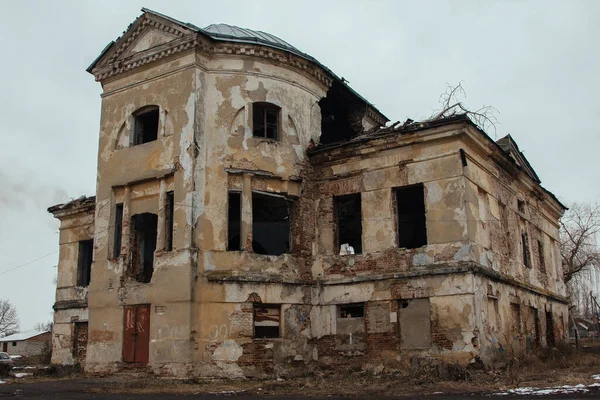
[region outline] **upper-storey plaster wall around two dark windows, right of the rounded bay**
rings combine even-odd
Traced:
[[[313,156],[317,213],[313,277],[405,272],[469,261],[459,146],[456,140],[425,141],[422,134],[410,134]],[[393,190],[418,183],[425,190],[427,245],[399,249]],[[351,193],[361,193],[363,254],[340,256],[334,248],[333,196]]]

